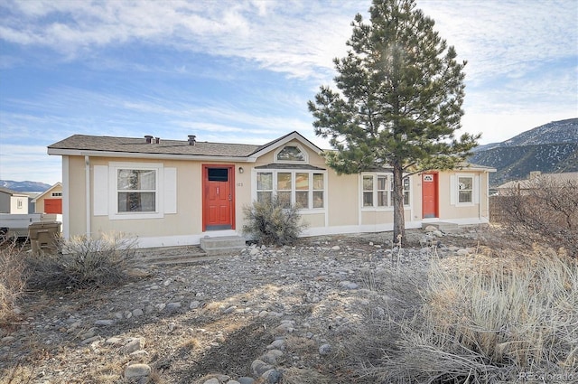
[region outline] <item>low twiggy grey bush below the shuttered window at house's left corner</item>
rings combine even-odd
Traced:
[[[28,258],[32,271],[29,282],[41,287],[115,286],[128,277],[135,259],[135,242],[118,234],[104,234],[100,239],[63,239],[59,252]]]

